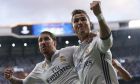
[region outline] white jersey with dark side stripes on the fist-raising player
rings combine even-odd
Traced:
[[[112,35],[101,40],[97,35],[90,43],[81,43],[74,54],[74,65],[81,84],[119,84],[112,66]]]

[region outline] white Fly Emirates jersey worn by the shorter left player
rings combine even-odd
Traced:
[[[79,84],[78,74],[73,64],[73,52],[76,47],[57,50],[51,62],[40,62],[23,80],[24,84]]]

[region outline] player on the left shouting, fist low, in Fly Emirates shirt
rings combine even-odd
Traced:
[[[48,31],[41,33],[38,44],[45,60],[36,64],[25,79],[14,77],[11,69],[5,70],[5,78],[12,84],[79,84],[73,64],[74,46],[56,50],[56,37]]]

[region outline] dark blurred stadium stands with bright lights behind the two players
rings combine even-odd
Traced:
[[[124,81],[118,77],[120,84],[140,84],[140,29],[113,30],[112,34],[113,58],[116,58],[133,76],[130,81]],[[37,41],[37,37],[0,36],[0,84],[8,83],[3,77],[5,68],[12,67],[15,76],[24,78],[36,63],[43,60]],[[75,35],[57,36],[57,49],[72,45],[79,45]]]

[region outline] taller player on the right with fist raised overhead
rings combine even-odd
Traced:
[[[74,65],[81,84],[118,84],[117,75],[112,66],[111,30],[103,17],[100,1],[93,1],[90,8],[97,17],[99,35],[91,31],[91,22],[87,13],[77,9],[72,12],[73,29],[81,44],[74,54]]]

